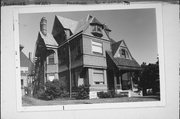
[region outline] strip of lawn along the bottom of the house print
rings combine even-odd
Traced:
[[[159,101],[157,96],[146,96],[146,97],[120,97],[120,98],[104,98],[104,99],[54,99],[54,100],[40,100],[33,97],[23,96],[23,106],[41,106],[41,105],[68,105],[68,104],[96,104],[96,103],[120,103],[120,102],[142,102],[142,101]]]

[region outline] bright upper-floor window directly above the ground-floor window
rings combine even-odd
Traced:
[[[102,43],[92,41],[92,52],[103,54]]]

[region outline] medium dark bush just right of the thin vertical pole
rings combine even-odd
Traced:
[[[77,87],[76,99],[89,99],[89,86],[81,85]]]

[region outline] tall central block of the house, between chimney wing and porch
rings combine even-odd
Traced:
[[[55,16],[52,34],[59,44],[59,79],[64,80],[67,89],[69,84],[72,87],[85,84],[90,85],[90,92],[108,90],[106,51],[111,51],[109,32],[105,24],[90,15],[79,22]]]

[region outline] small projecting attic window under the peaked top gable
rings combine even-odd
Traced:
[[[97,37],[102,37],[102,27],[100,25],[93,25],[92,26],[92,32],[91,32],[94,36]]]

